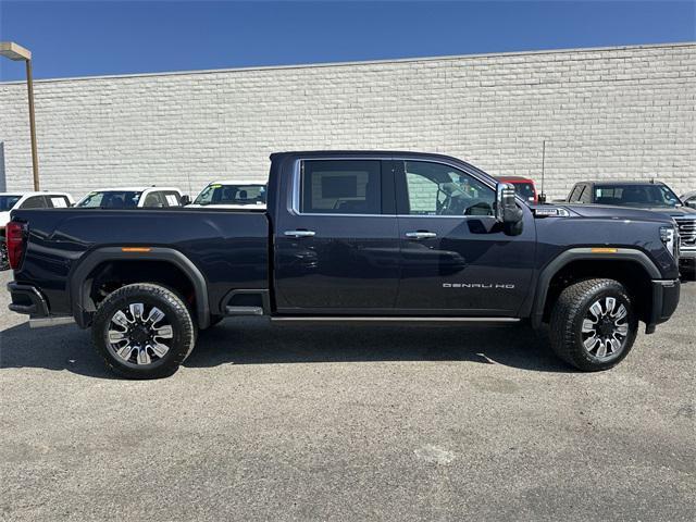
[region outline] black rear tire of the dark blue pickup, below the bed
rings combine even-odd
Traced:
[[[136,314],[129,311],[132,304],[142,306],[138,316],[148,315],[149,320],[153,308],[159,309],[164,316],[153,323],[147,320],[138,321]],[[119,331],[121,323],[114,321],[119,311],[125,314],[126,319],[133,319],[128,322],[132,330],[124,327],[124,332]],[[154,327],[156,325],[160,327]],[[164,331],[167,326],[171,328]],[[122,341],[111,343],[110,331],[115,336],[123,334]],[[164,332],[167,337],[159,337],[153,332]],[[147,337],[148,333],[153,336],[149,340],[140,337],[133,340],[138,335]],[[161,378],[173,375],[189,356],[196,344],[196,326],[188,307],[174,291],[150,283],[137,283],[119,288],[107,296],[95,314],[91,337],[97,351],[114,373],[127,378]],[[167,350],[160,357],[150,344],[164,346]],[[132,348],[126,360],[119,351],[127,351],[128,346]],[[141,361],[140,353],[144,349]]]

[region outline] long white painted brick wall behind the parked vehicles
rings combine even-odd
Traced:
[[[42,188],[265,178],[293,149],[462,158],[566,196],[580,178],[696,188],[696,44],[42,80]],[[30,187],[26,88],[0,84],[0,176]],[[0,188],[2,187],[0,179]]]

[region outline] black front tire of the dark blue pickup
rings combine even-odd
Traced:
[[[625,307],[625,320],[614,321],[613,315],[607,312],[607,315],[591,326],[595,330],[583,333],[584,321],[592,322],[595,318],[591,308],[599,303],[601,310],[608,309],[607,299],[614,299],[608,302],[614,303],[617,315],[620,314],[621,306]],[[616,326],[618,322],[621,326]],[[624,324],[625,336],[620,336],[618,328],[623,332]],[[551,348],[563,361],[585,372],[597,372],[616,366],[629,355],[637,331],[638,319],[623,285],[614,279],[586,279],[569,286],[559,296],[551,312],[549,337]],[[614,338],[620,346],[602,340],[609,338]],[[598,348],[593,353],[585,344]],[[605,353],[600,357],[602,349]],[[608,353],[609,350],[612,352]]]

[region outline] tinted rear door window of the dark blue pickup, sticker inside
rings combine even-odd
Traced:
[[[382,213],[382,163],[364,160],[303,161],[301,212]]]

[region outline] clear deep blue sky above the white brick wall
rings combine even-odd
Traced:
[[[35,78],[696,40],[687,1],[7,1]],[[0,80],[24,79],[0,58]]]

